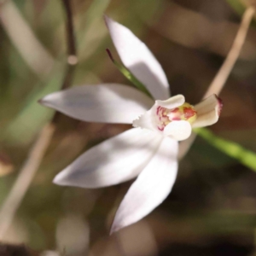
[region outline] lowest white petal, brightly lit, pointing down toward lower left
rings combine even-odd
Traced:
[[[177,176],[177,146],[177,141],[169,137],[163,139],[121,202],[111,232],[136,223],[166,199]]]

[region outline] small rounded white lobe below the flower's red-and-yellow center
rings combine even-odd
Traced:
[[[190,136],[191,131],[192,128],[188,121],[172,121],[166,125],[164,134],[177,141],[183,141]]]

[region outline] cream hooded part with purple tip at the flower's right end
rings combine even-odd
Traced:
[[[222,106],[223,103],[221,99],[214,94],[195,105],[197,118],[195,119],[195,123],[192,125],[192,127],[204,127],[215,124],[218,121]]]

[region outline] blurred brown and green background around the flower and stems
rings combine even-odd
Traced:
[[[242,0],[70,3],[79,58],[72,86],[131,84],[106,54],[109,48],[119,58],[102,19],[107,14],[148,45],[166,72],[172,94],[183,94],[190,103],[200,101],[218,72],[248,4]],[[0,206],[38,133],[54,114],[40,106],[38,99],[60,90],[67,72],[65,22],[61,0],[0,3]],[[224,101],[221,118],[211,126],[216,136],[253,152],[255,24],[220,94]],[[200,137],[180,162],[167,200],[116,236],[108,236],[109,228],[131,183],[106,189],[52,183],[55,174],[84,150],[129,127],[78,122],[61,115],[3,242],[24,244],[34,255],[48,256],[256,255],[256,173]]]

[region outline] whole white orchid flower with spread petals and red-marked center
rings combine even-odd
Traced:
[[[54,179],[59,185],[101,188],[138,176],[119,206],[113,232],[166,199],[177,176],[177,141],[189,137],[191,127],[216,123],[221,102],[213,95],[193,107],[184,96],[170,97],[166,74],[147,46],[125,26],[108,17],[106,23],[125,67],[156,101],[130,86],[99,84],[55,92],[41,102],[75,119],[136,127],[90,148]]]

